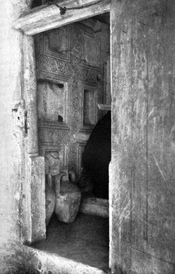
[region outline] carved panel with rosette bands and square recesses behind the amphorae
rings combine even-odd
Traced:
[[[35,36],[40,154],[59,152],[61,166],[77,179],[103,100],[103,65],[93,39],[93,30],[78,23]]]

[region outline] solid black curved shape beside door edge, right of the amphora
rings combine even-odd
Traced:
[[[111,161],[111,111],[95,125],[82,154],[82,173],[78,185],[84,195],[109,199]]]

